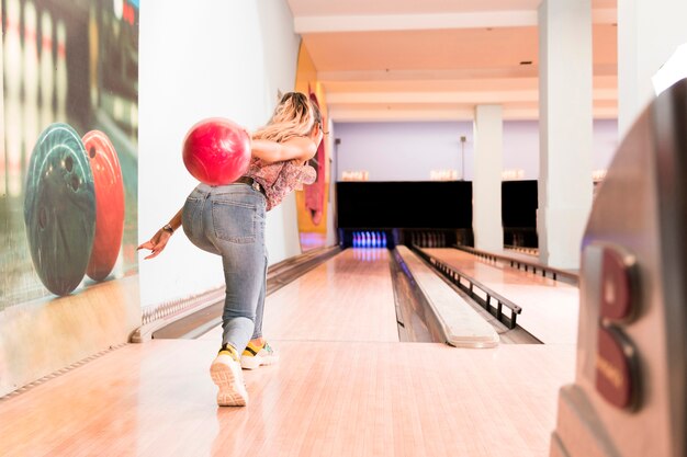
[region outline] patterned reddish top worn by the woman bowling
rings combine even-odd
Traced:
[[[296,160],[266,163],[252,158],[246,176],[252,178],[264,190],[269,212],[292,191],[301,191],[303,184],[313,184],[317,179],[317,172],[311,165],[299,164]]]

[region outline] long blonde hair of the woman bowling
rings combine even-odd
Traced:
[[[286,92],[270,121],[255,132],[252,138],[283,142],[293,137],[308,136],[315,125],[322,128],[319,107],[301,92]]]

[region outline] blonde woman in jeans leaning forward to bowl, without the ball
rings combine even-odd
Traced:
[[[199,184],[179,213],[138,249],[158,255],[179,226],[200,249],[222,256],[226,297],[222,347],[210,367],[217,404],[245,405],[241,367],[277,362],[262,336],[267,281],[264,214],[294,188],[315,181],[305,164],[323,138],[322,115],[302,93],[286,93],[269,123],[255,132],[248,171],[232,184]]]

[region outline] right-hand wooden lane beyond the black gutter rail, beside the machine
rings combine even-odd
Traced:
[[[522,313],[518,316],[518,324],[543,343],[577,342],[577,287],[531,272],[494,265],[457,249],[424,251],[519,305]]]

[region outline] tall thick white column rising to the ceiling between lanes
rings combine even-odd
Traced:
[[[590,0],[543,0],[539,7],[540,260],[579,267],[592,208]]]

